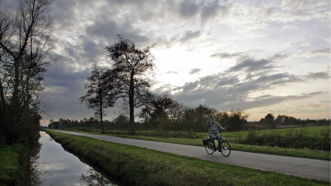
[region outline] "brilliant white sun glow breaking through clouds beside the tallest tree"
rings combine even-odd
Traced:
[[[219,59],[211,58],[211,52],[200,50],[199,52],[190,52],[186,47],[175,45],[169,49],[154,49],[152,53],[156,59],[156,80],[159,82],[154,85],[158,88],[164,84],[172,86],[182,86],[185,82],[196,81],[199,77],[218,73],[226,70],[231,62],[220,62]],[[232,62],[233,64],[233,62]],[[194,69],[194,73],[192,73]],[[172,92],[172,94],[178,91]]]

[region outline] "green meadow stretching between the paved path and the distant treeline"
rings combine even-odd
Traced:
[[[279,138],[284,138],[286,140],[291,136],[297,135],[300,141],[308,141],[307,139],[316,139],[315,141],[324,140],[325,143],[330,143],[330,126],[310,126],[310,127],[297,127],[297,128],[287,128],[287,129],[272,129],[272,130],[258,130],[255,131],[256,136],[263,136],[270,134]],[[77,131],[69,130],[69,131]],[[77,131],[78,132],[78,131]],[[204,146],[202,144],[202,139],[208,136],[208,133],[196,133],[193,131],[163,131],[160,129],[148,130],[148,131],[136,131],[136,135],[129,135],[127,131],[118,130],[106,130],[106,134],[101,134],[100,130],[87,130],[79,131],[84,133],[92,133],[99,135],[112,135],[131,139],[158,141],[166,143],[176,143],[184,145],[194,145],[194,146]],[[331,155],[330,151],[316,150],[310,143],[308,147],[304,148],[289,148],[280,146],[270,146],[270,145],[252,145],[244,144],[243,141],[248,139],[249,133],[252,131],[239,131],[239,132],[223,132],[223,137],[230,142],[231,150],[253,152],[253,153],[263,153],[263,154],[273,154],[281,156],[291,156],[291,157],[301,157],[319,160],[330,161]],[[277,134],[277,135],[274,135]],[[292,135],[289,135],[292,134]],[[296,140],[298,139],[296,138]],[[326,140],[325,140],[326,138]],[[298,141],[298,140],[297,140]],[[288,142],[293,144],[292,142]],[[330,146],[330,145],[328,145]]]

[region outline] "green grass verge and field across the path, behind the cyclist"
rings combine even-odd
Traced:
[[[274,130],[259,130],[259,134],[268,134],[268,133],[281,133],[285,135],[289,131],[299,132],[300,130],[307,129],[307,136],[309,137],[319,137],[322,132],[330,131],[330,126],[314,126],[314,127],[298,127],[291,129],[274,129]],[[72,130],[71,130],[72,131]],[[91,134],[100,134],[101,131],[85,132]],[[124,138],[132,139],[141,139],[149,141],[158,141],[166,143],[176,143],[183,145],[194,145],[194,146],[203,146],[202,138],[208,136],[207,133],[193,133],[193,132],[167,132],[170,133],[170,136],[178,137],[150,137],[153,136],[151,133],[156,132],[160,133],[162,136],[162,131],[137,131],[137,135],[131,136],[126,134],[126,131],[107,131],[110,134]],[[329,151],[320,151],[320,150],[311,150],[307,148],[303,149],[293,149],[293,148],[280,148],[280,147],[270,147],[270,146],[257,146],[257,145],[244,145],[240,143],[235,143],[239,138],[245,138],[249,131],[240,131],[240,132],[224,132],[223,137],[230,142],[231,149],[244,152],[253,152],[253,153],[263,153],[263,154],[272,154],[280,156],[291,156],[291,157],[300,157],[300,158],[310,158],[318,160],[328,160],[330,161],[331,156]],[[163,134],[164,135],[164,134]],[[180,136],[195,136],[192,138],[179,138]]]

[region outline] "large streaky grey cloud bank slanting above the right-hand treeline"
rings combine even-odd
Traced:
[[[269,69],[268,60],[244,60],[236,66],[231,67],[232,70],[219,72],[199,78],[193,82],[187,82],[183,86],[173,87],[170,85],[163,86],[157,91],[164,91],[171,93],[171,91],[178,91],[173,95],[175,100],[180,100],[184,103],[190,104],[207,104],[212,107],[231,109],[243,108],[250,109],[254,107],[269,106],[284,101],[307,99],[309,97],[323,95],[326,92],[310,92],[301,95],[289,96],[272,96],[262,95],[257,97],[250,97],[251,92],[257,90],[273,89],[277,86],[283,86],[287,83],[302,82],[303,79],[298,75],[284,73],[273,73],[274,71],[262,71],[250,74],[250,78],[238,79],[232,73],[234,70],[242,70],[248,68],[247,71]],[[249,65],[257,66],[256,69],[250,69]],[[267,66],[267,67],[265,67]],[[231,69],[230,68],[230,69]],[[319,76],[323,78],[324,76]]]

